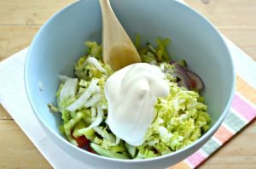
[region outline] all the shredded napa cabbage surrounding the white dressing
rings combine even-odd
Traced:
[[[144,143],[137,147],[117,138],[108,127],[104,85],[113,70],[102,61],[102,46],[85,42],[88,52],[75,64],[76,77],[59,76],[57,105],[48,104],[53,112],[61,112],[60,128],[68,141],[78,145],[76,139],[84,136],[100,146],[102,155],[111,152],[108,156],[145,159],[172,153],[200,138],[209,128],[207,105],[203,104],[204,98],[199,93],[177,85],[176,77],[172,76],[173,65],[168,64],[170,56],[166,46],[170,42],[169,38],[158,38],[156,47],[150,43],[142,47],[141,38],[137,36],[135,45],[143,62],[158,65],[170,85],[170,95],[157,99],[154,121],[148,128]]]

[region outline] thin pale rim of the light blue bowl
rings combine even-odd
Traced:
[[[26,88],[26,95],[27,95],[27,98],[29,100],[29,103],[32,105],[33,113],[37,117],[38,121],[40,121],[41,124],[43,124],[44,127],[46,127],[49,130],[49,132],[51,132],[53,135],[55,135],[55,137],[57,139],[59,139],[59,141],[63,142],[64,144],[67,144],[67,146],[70,146],[70,147],[72,147],[72,148],[74,148],[76,150],[79,150],[81,153],[85,153],[87,155],[91,155],[93,157],[96,157],[96,158],[98,158],[100,160],[113,161],[113,162],[144,163],[144,162],[148,162],[148,161],[159,161],[161,159],[166,159],[166,158],[171,157],[173,155],[178,155],[178,154],[182,153],[183,151],[192,149],[196,144],[203,143],[205,140],[208,140],[209,138],[211,138],[212,135],[214,134],[214,132],[217,131],[218,127],[224,121],[224,117],[228,114],[228,112],[229,112],[228,110],[230,109],[230,104],[232,102],[232,99],[235,96],[236,70],[235,70],[235,66],[234,66],[234,60],[232,59],[232,55],[230,53],[230,48],[228,48],[226,42],[224,41],[224,37],[222,36],[220,31],[218,31],[218,29],[215,27],[215,25],[213,25],[205,16],[203,16],[202,14],[198,13],[197,11],[195,11],[195,9],[189,7],[189,5],[187,5],[186,3],[178,2],[176,0],[174,0],[173,3],[177,3],[177,5],[179,5],[181,8],[185,8],[184,10],[188,10],[188,11],[190,11],[191,14],[197,15],[196,17],[199,17],[199,18],[201,18],[201,20],[204,20],[205,23],[211,27],[212,31],[215,31],[215,33],[218,35],[218,37],[220,39],[220,42],[223,43],[222,45],[224,45],[224,48],[226,49],[226,52],[227,52],[227,56],[226,57],[228,57],[228,59],[230,60],[230,68],[231,68],[231,72],[232,72],[232,77],[233,78],[231,79],[232,81],[230,82],[231,87],[230,87],[230,91],[229,91],[229,93],[230,93],[229,99],[228,99],[227,103],[225,104],[223,113],[218,118],[218,121],[216,121],[216,123],[213,124],[212,127],[206,133],[204,133],[201,136],[201,138],[198,138],[197,140],[195,140],[195,142],[193,142],[192,144],[189,144],[188,146],[184,147],[183,149],[178,149],[177,151],[169,153],[169,154],[166,154],[166,155],[160,155],[160,156],[157,156],[157,157],[154,157],[154,158],[148,158],[148,159],[132,159],[132,160],[129,159],[129,160],[123,160],[123,159],[115,159],[115,158],[111,158],[111,157],[105,157],[105,156],[102,156],[102,155],[96,155],[96,154],[90,153],[90,152],[88,152],[88,151],[86,151],[84,149],[80,149],[79,147],[69,143],[66,138],[62,138],[60,134],[54,132],[51,129],[51,127],[49,127],[49,125],[45,121],[43,121],[41,119],[41,116],[39,115],[39,113],[35,109],[35,105],[33,104],[32,95],[29,92],[29,85],[28,85],[28,78],[29,77],[27,76],[27,74],[28,74],[28,66],[29,66],[29,62],[30,62],[29,59],[31,58],[31,53],[32,53],[32,47],[38,41],[38,37],[40,35],[40,32],[43,31],[44,28],[47,25],[49,25],[52,20],[55,20],[55,18],[58,17],[58,15],[67,12],[68,8],[73,8],[75,5],[78,5],[79,3],[82,3],[82,2],[84,2],[84,1],[76,1],[76,2],[73,2],[73,3],[69,3],[69,4],[67,4],[66,7],[61,8],[55,14],[53,14],[49,18],[49,20],[47,20],[44,23],[44,25],[42,25],[40,27],[40,29],[38,30],[36,36],[33,38],[32,42],[31,42],[31,45],[30,45],[30,47],[28,49],[28,52],[26,54],[26,61],[25,61],[25,68],[24,68],[24,82],[25,82],[25,88]],[[44,132],[45,132],[45,130],[44,130]],[[48,135],[48,134],[46,133],[46,135]],[[54,143],[55,143],[55,141],[54,141]],[[57,146],[60,147],[60,145],[57,145]],[[199,149],[201,149],[201,148],[199,148]]]

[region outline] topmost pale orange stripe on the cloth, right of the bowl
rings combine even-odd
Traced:
[[[240,76],[236,76],[236,90],[253,104],[256,104],[256,89],[251,87]]]

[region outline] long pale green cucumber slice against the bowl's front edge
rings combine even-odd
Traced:
[[[91,149],[93,149],[97,154],[102,155],[102,156],[107,156],[107,157],[112,157],[112,158],[117,158],[117,159],[129,159],[128,156],[122,155],[119,153],[114,153],[108,149],[104,149],[98,144],[90,143]]]

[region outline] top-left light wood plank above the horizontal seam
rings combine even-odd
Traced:
[[[0,25],[42,25],[73,0],[1,0]]]

